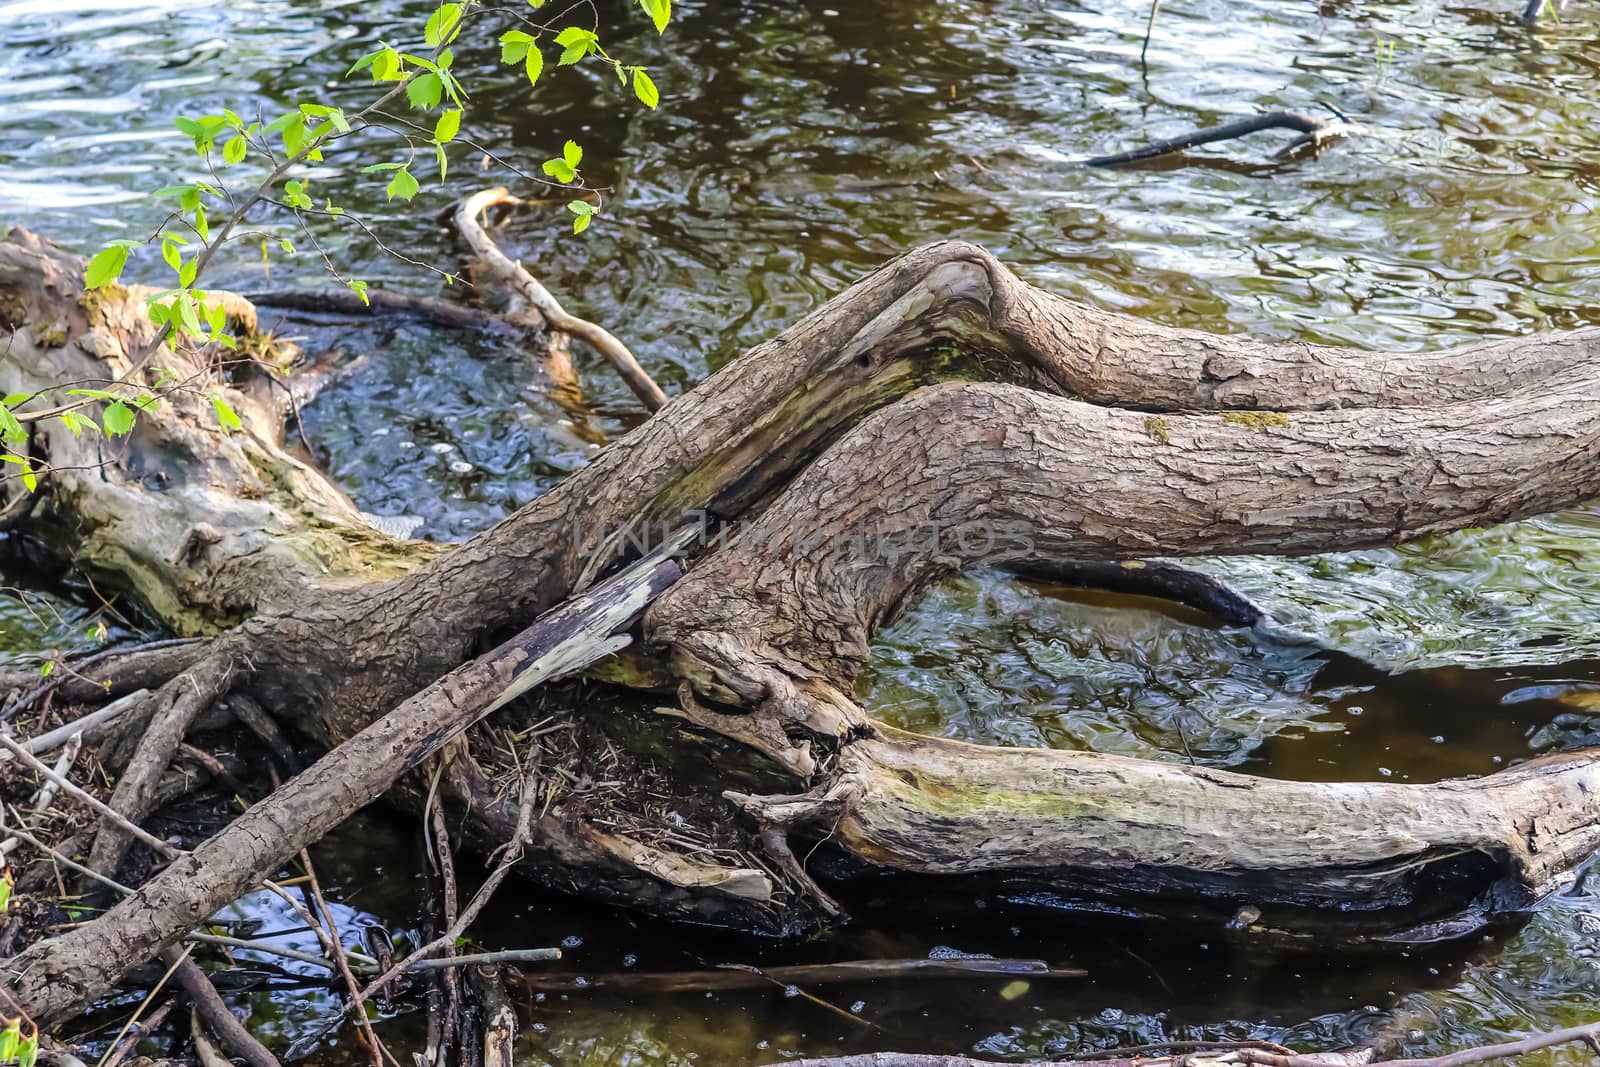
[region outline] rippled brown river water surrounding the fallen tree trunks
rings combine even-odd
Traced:
[[[627,27],[613,30],[613,51],[651,64],[658,114],[602,72],[547,77],[530,99],[488,48],[464,50],[477,142],[536,170],[576,136],[589,178],[614,186],[584,238],[544,206],[515,216],[502,243],[571,309],[624,336],[669,392],[890,254],[946,235],[982,242],[1058,293],[1214,331],[1410,350],[1600,323],[1592,0],[1538,30],[1515,22],[1517,0],[1168,0],[1147,67],[1147,10],[1122,0],[830,2],[680,0],[661,40],[621,3],[602,5]],[[0,208],[83,251],[144,237],[162,221],[144,194],[200,176],[174,112],[274,114],[309,93],[358,106],[366,90],[342,72],[426,11],[395,0],[3,3]],[[1314,160],[1272,163],[1288,134],[1266,133],[1187,166],[1077,163],[1258,109],[1330,106],[1366,131]],[[334,154],[312,192],[446,270],[458,251],[434,210],[504,181],[461,150],[448,186],[427,184],[402,210],[349,163]],[[264,222],[306,251],[277,256],[264,277],[254,245],[240,245],[219,282],[320,285],[312,242],[282,218]],[[459,296],[374,254],[358,230],[326,226],[315,238],[374,283]],[[139,270],[158,277],[149,261]],[[363,507],[416,515],[424,536],[491,525],[592,454],[506,341],[405,323],[286,318],[278,330],[328,360],[378,354],[306,411],[306,429]],[[584,370],[613,411],[602,429],[626,429],[637,416],[624,389]],[[1592,509],[1395,550],[1197,565],[1338,651],[973,574],[882,635],[864,699],[947,736],[1317,779],[1430,781],[1600,741],[1594,704],[1571,701],[1600,685]],[[27,595],[0,600],[5,661],[82,643],[96,617],[122,632],[88,592],[61,597],[29,574],[6,582]],[[363,819],[322,849],[325,878],[352,917],[408,928],[422,893],[408,849],[381,816]],[[826,990],[838,1011],[781,990],[530,995],[528,1061],[563,1067],[731,1067],[890,1046],[1066,1056],[1222,1035],[1325,1048],[1381,1029],[1421,1053],[1587,1019],[1600,989],[1595,896],[1555,897],[1480,945],[1336,961],[1109,917],[1018,909],[946,928],[936,899],[880,904],[830,941],[778,952],[507,896],[480,939],[574,939],[565,966],[579,973],[941,950],[1090,971],[1022,990]],[[269,902],[245,907],[274,918]],[[334,1008],[320,992],[250,1006],[280,1046]],[[382,1025],[397,1040],[421,1033],[416,1014]],[[346,1054],[360,1056],[336,1032],[314,1059]]]

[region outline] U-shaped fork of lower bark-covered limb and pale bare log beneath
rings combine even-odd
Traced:
[[[1138,413],[1016,386],[928,387],[835,443],[651,608],[646,633],[755,709],[725,733],[786,766],[832,757],[806,798],[733,798],[878,867],[1077,869],[1147,893],[1210,881],[1288,925],[1379,902],[1432,918],[1498,885],[1526,901],[1600,846],[1600,752],[1470,782],[1304,784],[917,737],[846,694],[872,632],[962,569],[1355,549],[1587,499],[1597,370],[1491,408],[1171,416],[1160,437]]]

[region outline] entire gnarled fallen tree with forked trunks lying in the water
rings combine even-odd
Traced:
[[[0,243],[0,390],[115,379],[149,344],[141,293],[85,294],[80,277],[78,258],[30,234]],[[248,306],[235,318],[250,330]],[[962,877],[1203,921],[1245,909],[1285,936],[1360,939],[1523,907],[1600,846],[1592,750],[1426,785],[1286,782],[920,737],[850,696],[874,630],[965,568],[1126,589],[1150,576],[1163,592],[1184,582],[1155,557],[1392,544],[1594,498],[1600,330],[1410,354],[1270,344],[1074,304],[942,242],[451,547],[389,536],[288,454],[280,390],[262,386],[272,360],[219,373],[160,350],[152,365],[182,387],[128,438],[27,422],[53,470],[13,536],[206,638],[93,672],[102,697],[152,688],[126,713],[149,723],[114,798],[131,819],[194,718],[232,694],[334,749],[251,814],[338,822],[376,790],[307,792],[354,766],[336,745],[390,713],[464,725],[506,704],[518,669],[482,649],[693,520],[685,576],[650,585],[666,592],[608,677],[677,693],[669,713],[725,739],[720,782],[653,779],[714,824],[720,848],[674,848],[674,833],[651,833],[654,808],[618,829],[558,795],[522,861],[547,885],[784,933],[826,921],[832,896],[848,907],[851,875]],[[208,390],[229,397],[242,432],[216,427]],[[518,808],[490,784],[493,749],[467,734],[440,785],[485,846]],[[365,752],[368,785],[414,763]],[[392,795],[414,801],[416,787]],[[54,1021],[107,992],[299,848],[304,833],[251,814],[99,920],[0,961],[3,995]],[[102,827],[98,861],[125,854],[120,833]],[[795,835],[827,840],[840,877],[826,889]]]

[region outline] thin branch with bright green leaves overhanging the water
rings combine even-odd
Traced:
[[[600,43],[598,26],[557,26],[560,16],[552,21],[539,21],[530,11],[539,11],[547,0],[526,0],[526,8],[485,6],[482,0],[462,0],[440,3],[422,24],[421,53],[403,51],[389,43],[379,45],[363,54],[346,72],[352,77],[368,72],[373,85],[386,90],[362,110],[347,115],[339,107],[322,101],[304,101],[283,112],[277,118],[266,122],[258,117],[246,122],[234,110],[222,109],[211,115],[179,115],[173,122],[181,133],[194,141],[195,154],[205,163],[211,181],[189,181],[166,186],[155,190],[157,198],[173,200],[176,206],[163,221],[157,232],[144,242],[114,240],[98,251],[85,272],[85,288],[101,290],[115,285],[126,269],[134,253],[147,245],[158,245],[162,259],[173,270],[174,285],[147,298],[147,315],[157,326],[154,338],[133,358],[131,366],[106,381],[88,382],[74,389],[46,389],[29,394],[13,394],[0,400],[0,464],[18,467],[14,477],[32,493],[38,486],[40,474],[48,470],[40,461],[29,456],[29,426],[45,419],[59,419],[74,435],[99,432],[109,438],[125,437],[138,424],[138,413],[149,411],[168,395],[170,379],[176,378],[170,371],[154,368],[155,381],[141,384],[152,357],[163,344],[178,342],[192,346],[205,354],[208,349],[232,350],[237,339],[227,333],[227,314],[222,301],[213,301],[203,290],[197,288],[224,245],[242,237],[258,237],[261,240],[262,267],[270,269],[267,237],[261,232],[240,234],[238,227],[259,206],[275,206],[298,218],[301,227],[315,243],[307,216],[355,221],[363,232],[386,253],[410,266],[429,267],[416,259],[395,253],[384,245],[370,226],[349,214],[344,208],[325,198],[318,206],[309,192],[309,179],[294,178],[294,171],[302,163],[323,162],[325,150],[336,142],[355,138],[366,131],[387,131],[398,136],[406,144],[403,160],[373,162],[360,166],[363,174],[376,174],[386,182],[389,200],[410,202],[421,192],[421,181],[413,173],[419,152],[432,149],[432,157],[438,166],[438,179],[448,174],[448,146],[462,141],[462,120],[467,112],[469,96],[454,70],[453,45],[462,30],[475,18],[486,13],[510,14],[526,29],[509,29],[499,35],[501,62],[515,64],[528,77],[530,88],[539,83],[546,70],[544,46],[549,38],[558,48],[557,67],[576,67],[586,59],[594,59],[610,66],[622,86],[632,86],[634,96],[650,109],[661,101],[659,90],[646,69],[638,64],[627,64],[613,58]],[[658,34],[666,32],[672,18],[672,0],[637,0],[638,6],[656,27]],[[578,5],[574,5],[578,6]],[[570,11],[571,8],[566,8]],[[592,10],[592,5],[590,5]],[[565,11],[563,11],[565,14]],[[384,109],[400,96],[414,112],[430,117],[430,125],[398,118],[406,131],[395,131],[382,120],[397,120]],[[413,136],[418,134],[418,136]],[[426,141],[422,141],[426,138]],[[419,146],[419,141],[422,144]],[[280,154],[282,152],[282,154]],[[264,160],[267,170],[264,178],[248,195],[237,198],[227,184],[219,178],[219,170],[240,166],[250,158]],[[582,147],[576,141],[566,141],[562,154],[542,165],[544,179],[525,174],[502,160],[509,170],[523,178],[544,181],[549,186],[576,194],[568,200],[566,208],[573,216],[573,234],[582,234],[600,214],[600,190],[589,187],[579,165],[582,163]],[[282,189],[280,189],[282,187]],[[213,213],[221,222],[213,227]],[[171,229],[173,222],[181,229]],[[198,240],[194,246],[190,238]],[[278,248],[285,254],[294,253],[294,245],[288,237],[278,238]],[[318,246],[320,251],[320,246]],[[323,254],[330,274],[347,285],[366,302],[366,282],[344,277],[338,266]],[[437,270],[437,269],[435,269]],[[454,275],[443,274],[446,282],[454,282]],[[165,378],[165,381],[163,381]],[[46,397],[45,394],[61,394]],[[206,394],[211,400],[218,426],[222,432],[242,429],[238,414],[229,406],[221,394]],[[32,408],[35,402],[46,402],[43,408]],[[54,403],[50,403],[54,400]],[[98,419],[90,416],[91,408],[99,408]],[[0,478],[3,480],[3,478]]]

